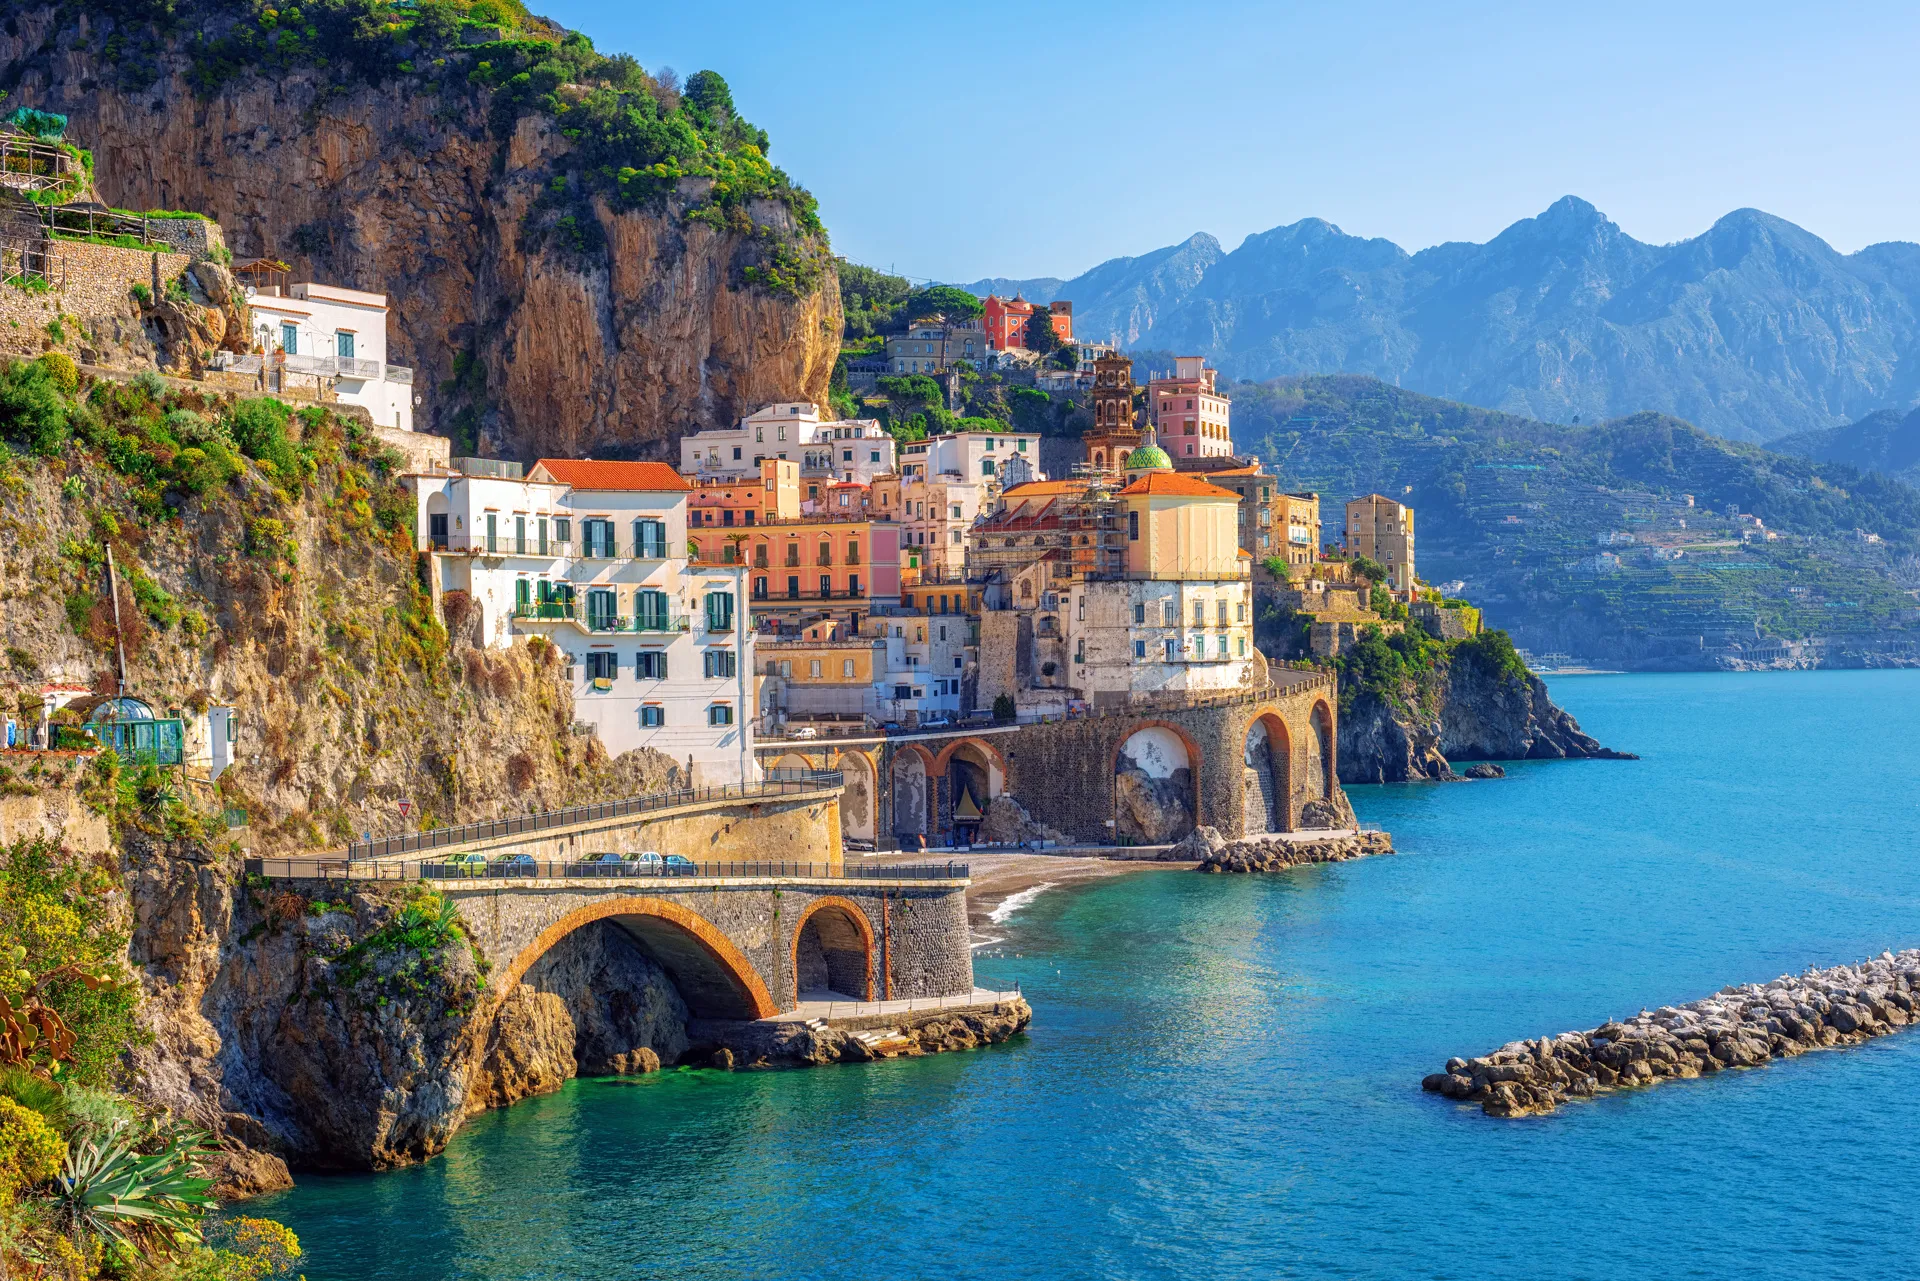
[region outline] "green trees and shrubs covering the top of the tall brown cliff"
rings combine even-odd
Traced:
[[[772,244],[747,269],[753,284],[799,296],[828,269],[826,230],[812,194],[766,159],[768,136],[745,121],[716,71],[685,85],[649,73],[628,54],[603,56],[578,31],[501,0],[111,0],[117,19],[104,52],[123,90],[161,79],[161,52],[182,44],[188,83],[211,96],[252,75],[319,73],[336,88],[411,83],[413,92],[470,102],[486,94],[493,136],[528,117],[549,119],[570,142],[534,230],[580,254],[601,248],[593,200],[660,207],[684,179],[707,182],[685,217],[755,230]],[[797,234],[766,230],[753,202],[776,202]]]

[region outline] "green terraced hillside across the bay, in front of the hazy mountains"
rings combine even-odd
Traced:
[[[1659,413],[1557,426],[1352,375],[1227,390],[1235,442],[1321,495],[1329,542],[1350,497],[1411,503],[1421,576],[1465,580],[1540,653],[1703,666],[1728,638],[1916,636],[1920,492],[1897,480]]]

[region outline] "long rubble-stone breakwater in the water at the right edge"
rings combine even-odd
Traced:
[[[1722,987],[1594,1031],[1511,1041],[1450,1058],[1421,1089],[1478,1102],[1488,1116],[1551,1112],[1563,1099],[1757,1068],[1770,1058],[1859,1045],[1920,1018],[1920,949]]]

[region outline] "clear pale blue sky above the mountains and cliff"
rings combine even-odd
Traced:
[[[1075,277],[1323,217],[1407,250],[1574,194],[1632,236],[1738,207],[1920,240],[1920,6],[532,0],[722,73],[837,254]]]

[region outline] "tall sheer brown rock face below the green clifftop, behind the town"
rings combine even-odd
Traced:
[[[175,40],[144,90],[115,86],[111,23],[73,6],[8,6],[8,104],[69,117],[100,198],[219,219],[238,257],[386,294],[388,361],[415,369],[417,426],[505,457],[668,457],[685,430],[776,399],[828,399],[841,305],[831,265],[799,296],[745,271],[795,238],[756,202],[724,229],[685,221],[707,179],[664,209],[593,215],[589,250],[541,234],[536,202],[572,142],[543,115],[490,131],[492,90],[338,86],[317,71],[188,85]],[[71,21],[61,25],[61,15]],[[457,367],[459,361],[459,367]]]

